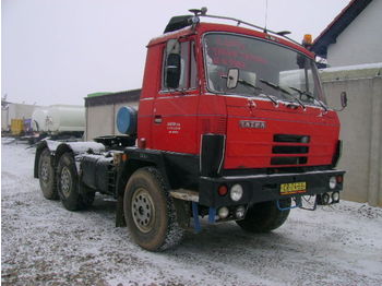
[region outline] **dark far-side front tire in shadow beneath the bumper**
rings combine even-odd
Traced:
[[[280,207],[290,206],[290,198],[280,200]],[[279,211],[275,201],[251,205],[246,218],[236,223],[244,230],[253,234],[268,233],[280,227],[289,215],[290,210]]]

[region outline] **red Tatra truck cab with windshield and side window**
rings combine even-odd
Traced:
[[[203,138],[215,136],[219,146],[204,146],[219,159],[215,175],[335,166],[339,121],[312,52],[239,26],[172,28],[147,46],[138,120],[147,148],[201,158]],[[227,85],[230,70],[235,86]]]

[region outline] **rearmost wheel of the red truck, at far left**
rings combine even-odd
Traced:
[[[43,195],[48,200],[58,200],[55,168],[48,148],[43,150],[38,160],[38,180]]]

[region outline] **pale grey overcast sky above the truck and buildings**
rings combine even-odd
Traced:
[[[141,87],[145,45],[174,15],[208,13],[263,26],[266,0],[1,0],[1,96],[83,105],[94,92]],[[349,0],[268,0],[267,27],[317,37]]]

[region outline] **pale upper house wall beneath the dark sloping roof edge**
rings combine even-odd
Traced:
[[[374,0],[327,47],[330,67],[382,62],[382,1]]]

